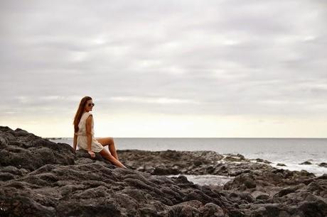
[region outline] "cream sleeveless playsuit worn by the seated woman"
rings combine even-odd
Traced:
[[[77,147],[79,149],[84,149],[87,150],[87,134],[86,134],[86,119],[88,116],[90,116],[92,113],[90,111],[85,112],[82,114],[82,117],[80,118],[80,123],[78,123],[78,132],[75,133],[75,135],[77,135]],[[100,152],[103,149],[103,146],[101,145],[101,143],[99,143],[96,139],[95,139],[95,133],[93,130],[93,118],[92,118],[92,143],[91,143],[91,150],[93,152]]]

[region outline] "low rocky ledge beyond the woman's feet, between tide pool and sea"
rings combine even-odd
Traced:
[[[213,174],[235,177],[250,169],[272,168],[267,164],[251,162],[240,154],[220,155],[214,151],[117,150],[117,153],[122,156],[122,162],[131,168],[160,175]]]

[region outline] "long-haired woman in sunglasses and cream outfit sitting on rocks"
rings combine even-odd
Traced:
[[[95,152],[99,152],[102,157],[112,162],[112,164],[127,169],[127,167],[118,160],[113,138],[94,137],[94,122],[91,113],[93,106],[95,106],[95,104],[90,96],[85,96],[80,101],[80,106],[78,106],[73,123],[75,132],[74,150],[76,150],[76,145],[78,145],[78,148],[87,150],[91,157],[95,157]],[[104,149],[106,145],[108,145],[111,154]]]

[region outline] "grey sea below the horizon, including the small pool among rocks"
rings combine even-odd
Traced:
[[[73,146],[73,138],[53,138],[55,143]],[[211,150],[219,154],[241,154],[248,159],[261,158],[280,169],[302,169],[316,176],[327,174],[327,138],[114,138],[117,150]],[[311,165],[300,165],[309,161]],[[278,163],[286,167],[277,166]],[[178,177],[170,175],[168,177]],[[216,175],[185,175],[189,181],[200,185],[223,185],[232,177]]]

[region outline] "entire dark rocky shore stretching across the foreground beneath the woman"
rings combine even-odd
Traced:
[[[84,150],[0,126],[0,216],[327,216],[327,174],[210,151]],[[233,177],[200,186],[186,176]]]

